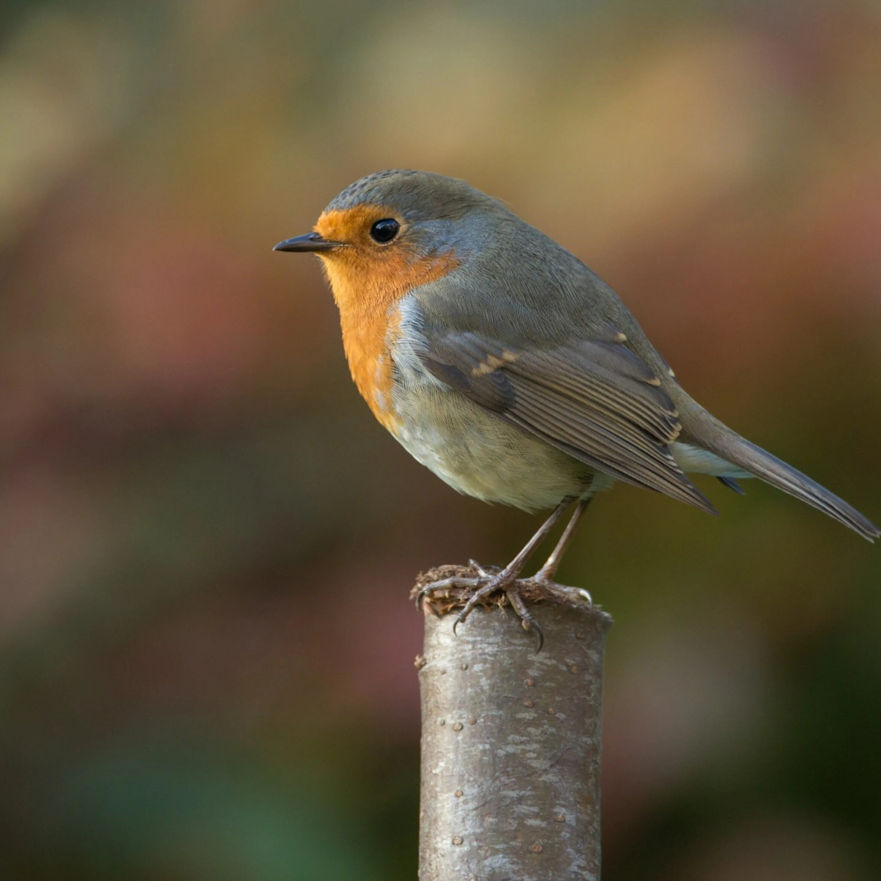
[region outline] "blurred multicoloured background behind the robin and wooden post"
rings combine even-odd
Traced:
[[[5,0],[4,881],[415,877],[408,590],[537,518],[398,447],[270,250],[388,167],[507,200],[881,518],[875,0]],[[618,487],[561,572],[617,621],[603,877],[879,877],[881,551],[700,485]]]

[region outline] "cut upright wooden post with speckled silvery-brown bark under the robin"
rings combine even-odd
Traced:
[[[510,610],[453,634],[426,613],[420,881],[600,877],[602,611],[537,603],[544,648]]]

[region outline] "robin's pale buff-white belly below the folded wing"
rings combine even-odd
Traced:
[[[531,511],[611,485],[452,389],[398,385],[392,398],[396,439],[458,492]]]

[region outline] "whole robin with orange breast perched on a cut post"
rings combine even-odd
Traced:
[[[873,541],[874,523],[732,431],[689,396],[609,285],[497,198],[466,181],[395,169],[346,187],[310,233],[276,251],[311,253],[337,303],[352,379],[381,425],[458,492],[552,509],[507,566],[448,579],[470,598],[455,626],[504,594],[542,634],[518,576],[567,509],[532,579],[554,577],[597,492],[622,481],[717,514],[686,476],[743,492],[759,478]],[[476,564],[475,564],[476,565]]]

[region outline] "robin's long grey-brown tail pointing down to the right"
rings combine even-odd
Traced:
[[[818,508],[870,542],[881,536],[881,530],[873,522],[846,501],[839,499],[833,492],[829,492],[825,486],[819,485],[817,481],[811,480],[775,455],[740,437],[717,420],[713,419],[713,423],[712,432],[694,431],[692,428],[692,435],[702,447],[722,456],[730,463],[739,465],[755,477],[776,486],[777,489],[788,492],[796,499]],[[701,427],[706,429],[709,426]]]

